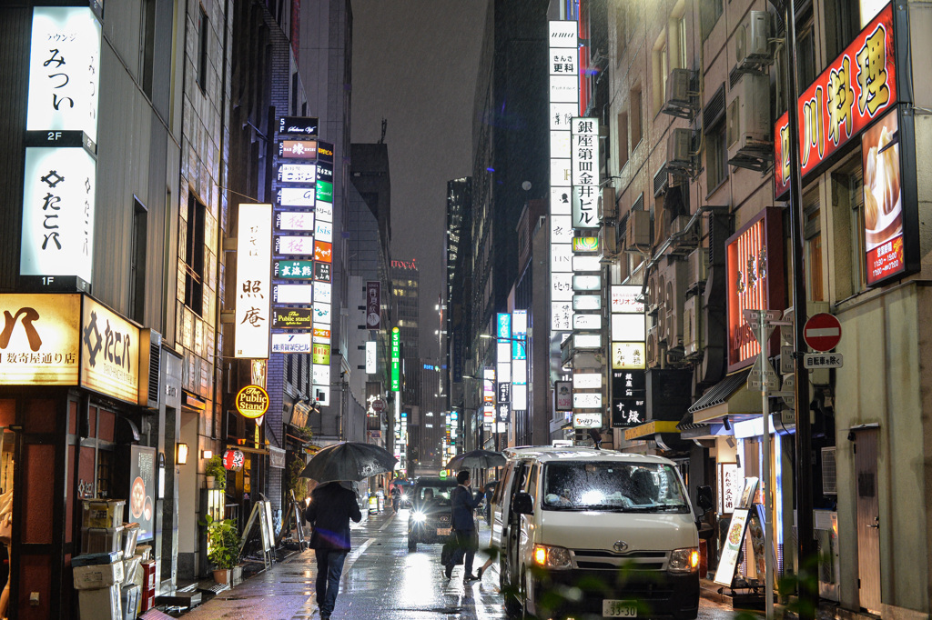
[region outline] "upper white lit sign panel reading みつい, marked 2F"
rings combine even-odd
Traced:
[[[101,24],[88,7],[35,7],[27,131],[83,131],[97,142]]]

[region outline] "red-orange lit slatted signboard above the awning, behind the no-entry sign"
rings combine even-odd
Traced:
[[[728,371],[753,362],[761,345],[745,322],[745,310],[783,310],[783,223],[780,209],[767,207],[725,242],[727,268]],[[776,346],[778,336],[771,338]]]

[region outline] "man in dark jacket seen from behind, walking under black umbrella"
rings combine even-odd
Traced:
[[[349,519],[363,519],[356,494],[349,482],[325,482],[310,493],[305,519],[310,521],[310,548],[317,556],[317,606],[322,620],[334,613],[336,594],[340,588],[343,562],[349,553]]]

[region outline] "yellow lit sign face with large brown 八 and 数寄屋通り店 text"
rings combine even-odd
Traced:
[[[81,296],[0,295],[0,385],[76,385]]]

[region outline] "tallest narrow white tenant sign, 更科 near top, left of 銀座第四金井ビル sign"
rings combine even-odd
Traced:
[[[550,22],[550,280],[551,338],[572,328],[572,119],[579,116],[579,22]]]

